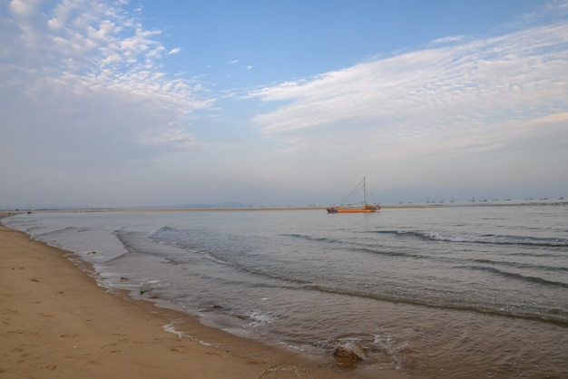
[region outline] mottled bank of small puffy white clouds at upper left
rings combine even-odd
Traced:
[[[170,79],[162,72],[166,50],[156,39],[159,31],[143,29],[116,2],[64,0],[53,8],[40,4],[15,0],[0,18],[0,44],[5,46],[0,51],[0,96],[5,99],[0,107],[5,120],[18,123],[16,134],[33,136],[41,118],[39,134],[51,130],[62,137],[47,140],[53,147],[80,124],[90,125],[99,136],[89,140],[89,131],[84,131],[85,145],[116,137],[143,141],[150,133],[177,135],[162,139],[162,146],[194,147],[197,142],[182,120],[212,101],[201,99],[199,83]],[[172,123],[180,129],[172,130]]]

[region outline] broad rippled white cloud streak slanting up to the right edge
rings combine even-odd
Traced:
[[[478,40],[446,38],[436,46],[251,92],[262,102],[283,103],[253,121],[267,135],[300,139],[303,149],[310,149],[308,141],[311,148],[338,141],[356,148],[362,138],[372,141],[369,149],[432,141],[443,148],[451,141],[447,146],[478,144],[484,135],[498,148],[489,138],[495,134],[487,133],[491,125],[568,108],[566,23]]]

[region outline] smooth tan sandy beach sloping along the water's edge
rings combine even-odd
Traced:
[[[70,257],[0,226],[0,378],[407,377],[263,345],[111,294]]]

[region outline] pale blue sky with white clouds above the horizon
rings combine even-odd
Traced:
[[[568,0],[0,0],[0,206],[568,195]]]

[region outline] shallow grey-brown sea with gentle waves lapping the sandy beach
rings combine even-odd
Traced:
[[[299,354],[353,348],[353,364],[410,378],[568,378],[565,201],[2,222],[73,252],[103,287]]]

